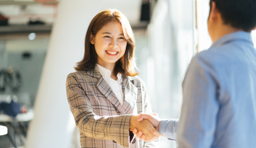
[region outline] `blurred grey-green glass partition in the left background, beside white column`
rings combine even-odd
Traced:
[[[0,35],[0,71],[8,72],[13,81],[7,83],[4,80],[7,78],[0,75],[0,85],[4,87],[0,95],[15,95],[22,105],[33,107],[49,36],[49,33]]]

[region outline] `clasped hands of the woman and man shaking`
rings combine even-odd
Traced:
[[[130,130],[136,134],[141,141],[154,141],[163,137],[159,133],[159,123],[161,119],[156,113],[141,113],[140,115],[133,115],[130,119]]]

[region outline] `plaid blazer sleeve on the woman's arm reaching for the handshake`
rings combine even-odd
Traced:
[[[114,140],[122,147],[129,148],[132,115],[97,116],[75,74],[68,75],[66,89],[75,124],[86,137]]]

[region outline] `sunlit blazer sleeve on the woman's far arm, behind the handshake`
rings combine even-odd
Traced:
[[[144,113],[152,113],[151,104],[147,95],[145,83],[141,82],[141,89],[142,89],[142,97],[144,99]],[[159,140],[146,142],[144,141],[144,148],[160,148]]]

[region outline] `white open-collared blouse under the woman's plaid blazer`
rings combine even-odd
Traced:
[[[114,95],[117,97],[121,105],[123,106],[123,77],[122,74],[117,74],[117,80],[114,80],[110,77],[111,71],[100,66],[99,64],[96,64],[98,66],[98,69],[103,76],[104,80],[109,84],[111,90],[113,91]]]

